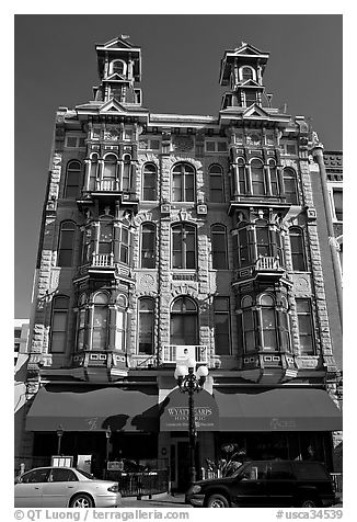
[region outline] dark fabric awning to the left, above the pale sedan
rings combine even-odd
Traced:
[[[48,385],[28,411],[27,431],[159,431],[156,387],[90,388]]]

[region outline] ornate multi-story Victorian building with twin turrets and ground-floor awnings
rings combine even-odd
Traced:
[[[341,419],[311,133],[272,106],[268,53],[224,52],[218,117],[151,113],[140,48],[115,38],[96,54],[93,100],[56,116],[24,447],[46,459],[64,432],[61,450],[99,469],[106,432],[111,457],[158,459],[184,487],[187,398],[173,372],[186,349],[210,372],[198,467],[237,442],[331,469]]]

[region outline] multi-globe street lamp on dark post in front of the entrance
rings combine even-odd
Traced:
[[[181,392],[188,394],[188,446],[189,446],[189,483],[196,480],[195,465],[195,445],[196,445],[196,425],[195,425],[195,405],[194,394],[200,392],[208,375],[207,366],[199,366],[195,373],[196,363],[188,359],[186,366],[176,366],[174,377]]]

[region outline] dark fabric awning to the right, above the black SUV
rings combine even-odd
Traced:
[[[326,392],[215,389],[220,431],[338,431],[342,413]]]

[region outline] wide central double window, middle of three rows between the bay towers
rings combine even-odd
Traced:
[[[172,226],[172,268],[196,269],[196,227],[188,224]]]

